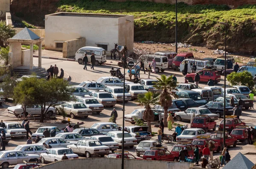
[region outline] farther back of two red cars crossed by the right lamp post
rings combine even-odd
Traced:
[[[223,120],[218,127],[218,130],[223,130]],[[246,124],[242,122],[239,118],[236,118],[236,115],[226,115],[226,130],[232,131],[236,126],[245,126]]]

